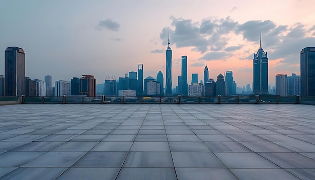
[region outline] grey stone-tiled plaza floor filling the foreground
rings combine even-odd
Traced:
[[[0,179],[315,179],[315,106],[0,106]]]

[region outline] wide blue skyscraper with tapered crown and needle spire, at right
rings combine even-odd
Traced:
[[[254,53],[253,60],[254,82],[253,94],[264,95],[268,93],[268,58],[267,52],[265,53],[261,46],[261,33],[260,33],[260,47],[257,54]]]

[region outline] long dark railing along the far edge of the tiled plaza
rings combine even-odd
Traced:
[[[235,96],[235,97],[0,97],[4,102],[27,104],[311,104],[315,97]]]

